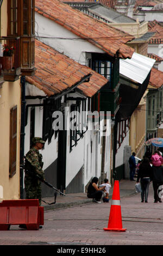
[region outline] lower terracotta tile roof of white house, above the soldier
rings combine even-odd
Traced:
[[[90,82],[78,86],[85,96],[93,96],[108,82],[105,77],[87,66],[77,63],[39,40],[35,40],[35,67],[35,75],[26,76],[26,81],[34,84],[47,96],[70,89],[90,74]]]

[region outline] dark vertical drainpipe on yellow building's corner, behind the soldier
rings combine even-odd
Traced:
[[[26,121],[26,76],[21,76],[20,198],[23,199],[24,137]]]

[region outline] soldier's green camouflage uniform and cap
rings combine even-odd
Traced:
[[[33,142],[41,142],[41,138],[35,137]],[[44,172],[42,170],[43,162],[42,155],[39,150],[32,148],[28,151],[25,160],[25,178],[24,185],[26,189],[26,199],[39,199],[39,204],[41,205],[41,179],[44,179]]]

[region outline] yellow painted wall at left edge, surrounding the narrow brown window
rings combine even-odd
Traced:
[[[7,0],[1,7],[1,36],[7,36]],[[3,80],[3,76],[0,76]],[[0,201],[20,198],[20,80],[0,86]],[[10,109],[17,105],[17,162],[16,174],[9,178]]]

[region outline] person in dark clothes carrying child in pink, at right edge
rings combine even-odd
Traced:
[[[159,151],[156,150],[151,157],[152,163],[152,182],[154,190],[154,203],[162,202],[159,194],[162,190],[163,185],[163,157],[160,155]]]

